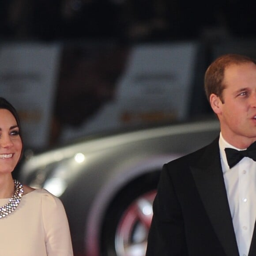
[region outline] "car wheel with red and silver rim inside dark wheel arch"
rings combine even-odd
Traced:
[[[102,255],[145,256],[159,172],[128,184],[113,200],[102,228]]]

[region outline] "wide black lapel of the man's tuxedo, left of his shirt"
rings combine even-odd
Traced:
[[[196,187],[215,233],[227,256],[239,256],[221,169],[218,139],[211,143],[196,166],[191,167]]]

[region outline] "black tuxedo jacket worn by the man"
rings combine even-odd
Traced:
[[[218,138],[163,166],[153,211],[146,256],[239,256]]]

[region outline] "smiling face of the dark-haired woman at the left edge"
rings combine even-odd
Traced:
[[[7,109],[0,109],[0,175],[11,173],[22,151],[22,141],[15,117]]]

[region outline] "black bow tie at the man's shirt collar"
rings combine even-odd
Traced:
[[[253,161],[256,161],[256,141],[252,143],[246,150],[238,151],[236,149],[226,147],[225,152],[230,168],[235,166],[244,157],[249,157],[252,158]]]

